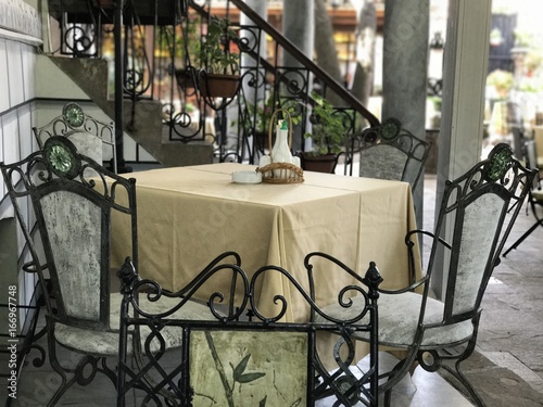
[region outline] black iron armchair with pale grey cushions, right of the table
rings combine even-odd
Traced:
[[[460,363],[473,352],[481,316],[481,301],[494,267],[509,234],[534,171],[526,169],[513,158],[508,144],[497,144],[484,160],[465,175],[447,181],[435,224],[434,233],[414,230],[406,237],[413,252],[420,233],[432,238],[426,275],[404,289],[379,290],[379,344],[404,349],[403,358],[394,369],[382,377],[380,392],[390,405],[392,387],[409,372],[414,363],[428,371],[444,368],[467,389],[478,406],[483,400],[460,371]],[[517,203],[514,211],[508,208]],[[452,222],[451,243],[441,236],[445,222]],[[446,291],[442,300],[431,294],[431,281],[437,270],[435,257],[444,252],[449,266],[443,278]],[[356,313],[363,298],[332,304],[323,310],[337,318],[349,318]],[[321,322],[320,316],[315,320]],[[364,332],[355,333],[362,341]],[[454,367],[449,361],[454,360]]]

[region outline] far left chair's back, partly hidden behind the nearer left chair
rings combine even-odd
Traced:
[[[103,123],[86,114],[77,103],[68,102],[62,114],[42,127],[33,127],[36,141],[41,149],[52,136],[68,138],[77,150],[100,165],[103,160],[103,148],[111,149],[111,169],[117,174],[117,156],[115,147],[115,128],[113,122]]]

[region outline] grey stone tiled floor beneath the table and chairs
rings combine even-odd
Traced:
[[[433,222],[435,179],[425,179],[425,227]],[[533,221],[521,212],[510,237],[513,242]],[[489,407],[543,406],[543,228],[496,268],[483,301],[478,352],[466,361],[465,371]],[[68,358],[70,360],[70,358]],[[112,364],[115,361],[112,360]],[[2,366],[5,364],[2,360]],[[26,360],[18,381],[18,398],[12,406],[45,406],[59,384],[58,374],[46,363],[35,368]],[[5,386],[0,398],[3,402]],[[460,407],[471,404],[439,374],[417,368],[393,396],[393,406]],[[74,385],[58,406],[114,406],[115,389],[103,376],[88,386]],[[130,400],[130,406],[139,405]],[[197,406],[199,407],[199,406]],[[223,407],[223,406],[219,406]],[[249,406],[248,406],[249,407]],[[253,407],[253,406],[250,406]],[[282,406],[270,406],[282,407]]]

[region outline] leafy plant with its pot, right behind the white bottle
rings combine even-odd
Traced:
[[[312,131],[304,135],[311,138],[313,149],[300,153],[303,169],[320,173],[333,173],[339,155],[343,152],[348,141],[348,128],[343,122],[344,114],[338,111],[326,99],[317,93],[312,94],[315,100],[310,122]]]

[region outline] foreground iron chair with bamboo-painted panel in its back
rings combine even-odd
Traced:
[[[264,275],[277,274],[283,284],[303,298],[303,304],[318,313],[325,323],[285,322],[293,306],[285,296],[261,294]],[[117,272],[122,279],[121,352],[118,361],[117,406],[125,406],[128,395],[156,406],[216,405],[235,406],[314,406],[317,400],[333,399],[334,406],[377,406],[377,287],[382,280],[375,264],[362,279],[364,289],[356,292],[364,298],[363,307],[349,318],[334,319],[323,313],[287,270],[266,266],[252,278],[238,266],[217,266],[197,276],[178,293],[164,292],[152,280],[141,280],[130,259]],[[310,281],[312,272],[310,270]],[[313,285],[313,282],[310,283]],[[206,290],[206,287],[209,290]],[[349,288],[346,288],[349,289]],[[214,320],[187,320],[176,317],[191,297],[207,292],[209,310]],[[149,296],[155,304],[175,301],[162,314],[149,310],[141,303]],[[245,317],[249,311],[249,319]],[[147,364],[135,369],[126,360],[128,336],[135,327],[151,332],[150,338],[164,343],[166,327],[182,330],[181,349],[143,348]],[[338,368],[329,372],[323,365],[316,343],[317,335],[339,332],[333,355]],[[351,370],[354,359],[353,335],[366,332],[374,340],[366,371]],[[330,349],[330,353],[332,349]],[[149,385],[142,377],[152,377]],[[165,398],[161,400],[157,392]],[[241,402],[241,404],[237,404]],[[146,404],[147,405],[147,404]]]

